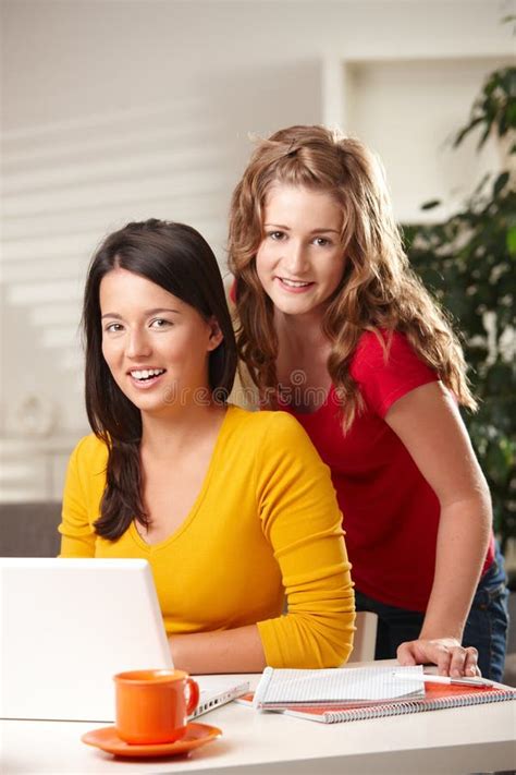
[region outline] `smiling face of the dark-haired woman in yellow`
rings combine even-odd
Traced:
[[[100,283],[102,353],[122,392],[142,412],[187,405],[208,389],[208,355],[222,340],[214,322],[126,269]]]

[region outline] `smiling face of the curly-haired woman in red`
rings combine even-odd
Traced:
[[[322,191],[278,183],[263,210],[256,269],[277,311],[322,314],[344,271],[342,210]]]

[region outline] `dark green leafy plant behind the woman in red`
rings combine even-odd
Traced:
[[[479,398],[479,411],[465,421],[491,488],[503,550],[516,536],[515,130],[516,68],[504,68],[486,80],[454,141],[458,146],[470,132],[480,132],[480,148],[494,135],[503,144],[503,169],[484,178],[444,223],[404,226],[414,269],[463,336]]]

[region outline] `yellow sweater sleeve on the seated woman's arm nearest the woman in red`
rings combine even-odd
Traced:
[[[263,534],[288,603],[285,616],[258,622],[267,664],[342,665],[355,631],[342,513],[329,469],[300,425],[283,412],[271,413],[256,479]]]

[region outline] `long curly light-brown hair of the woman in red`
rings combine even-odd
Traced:
[[[237,343],[263,402],[277,404],[278,335],[273,305],[256,270],[262,213],[273,183],[329,193],[342,207],[342,281],[322,320],[331,342],[328,371],[347,431],[361,409],[349,364],[364,331],[397,330],[470,409],[463,351],[447,315],[413,273],[394,222],[382,168],[358,140],[324,126],[290,126],[259,142],[237,184],[230,213],[229,267],[236,281]],[[389,342],[389,337],[388,337]],[[272,396],[272,398],[271,398]]]

